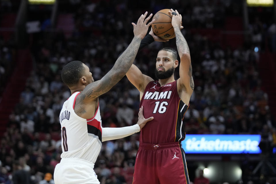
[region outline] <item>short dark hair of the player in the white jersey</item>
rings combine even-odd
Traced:
[[[76,85],[83,75],[84,67],[83,62],[81,61],[71,61],[66,64],[61,71],[62,81],[68,86],[71,87]]]

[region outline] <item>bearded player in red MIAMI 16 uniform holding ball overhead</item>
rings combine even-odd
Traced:
[[[171,48],[161,49],[156,57],[156,77],[151,77],[132,65],[127,72],[129,81],[140,91],[140,107],[144,116],[154,115],[140,133],[139,150],[136,156],[133,184],[189,184],[185,152],[181,141],[185,139],[183,116],[189,107],[194,83],[189,47],[181,33],[182,16],[177,10],[172,15],[176,45],[180,56],[179,75],[175,81],[174,70],[179,65],[177,52]],[[175,13],[174,13],[175,14]],[[141,47],[160,40],[151,31],[141,42]]]

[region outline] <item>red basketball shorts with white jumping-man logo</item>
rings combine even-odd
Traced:
[[[189,184],[185,152],[181,142],[140,143],[133,184]]]

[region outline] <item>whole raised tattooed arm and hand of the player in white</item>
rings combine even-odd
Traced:
[[[79,98],[85,102],[94,101],[98,96],[109,91],[122,77],[127,73],[131,67],[141,40],[147,34],[148,27],[154,22],[152,20],[149,24],[146,24],[152,14],[147,16],[147,12],[142,14],[137,21],[137,25],[133,24],[134,38],[127,49],[118,57],[112,69],[99,81],[95,81],[85,87],[85,89],[80,93]]]

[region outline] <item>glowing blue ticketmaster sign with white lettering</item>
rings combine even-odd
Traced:
[[[260,135],[186,135],[182,147],[186,153],[258,154],[260,140]]]

